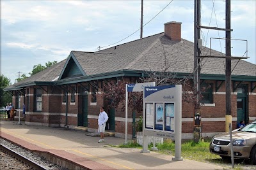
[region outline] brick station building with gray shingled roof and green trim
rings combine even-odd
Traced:
[[[98,96],[103,83],[133,81],[148,71],[163,71],[182,77],[193,73],[194,43],[181,38],[181,23],[164,24],[164,32],[137,39],[97,52],[70,52],[67,59],[40,73],[19,81],[4,90],[12,93],[13,105],[26,104],[27,125],[84,128],[97,131],[100,106],[108,101]],[[209,55],[209,48],[202,53]],[[211,50],[215,56],[225,54]],[[201,108],[202,137],[225,131],[225,58],[208,58],[201,68],[201,85],[210,84],[204,92]],[[232,60],[232,128],[240,120],[256,119],[256,65],[245,60]],[[191,80],[193,82],[193,80]],[[124,138],[125,112],[106,110],[107,131]],[[133,124],[141,113],[128,112],[128,138],[134,136]],[[182,103],[182,139],[192,139],[194,108]]]

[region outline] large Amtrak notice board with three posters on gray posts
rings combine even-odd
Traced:
[[[143,91],[143,150],[148,151],[148,136],[175,140],[175,158],[181,152],[182,86],[145,87]]]

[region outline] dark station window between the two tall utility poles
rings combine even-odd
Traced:
[[[204,83],[201,85],[202,99],[200,103],[213,103],[213,83]]]

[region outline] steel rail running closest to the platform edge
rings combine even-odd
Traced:
[[[12,155],[16,159],[18,159],[21,162],[23,162],[24,164],[28,164],[32,169],[38,169],[38,170],[45,170],[45,169],[47,169],[46,167],[43,167],[43,166],[37,164],[33,160],[30,160],[30,159],[20,155],[19,153],[15,152],[14,150],[12,150],[12,149],[10,149],[10,148],[2,145],[2,144],[0,144],[0,150],[3,150],[3,152],[6,152],[6,153]],[[12,161],[12,160],[10,160],[10,161]]]

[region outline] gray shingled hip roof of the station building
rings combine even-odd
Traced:
[[[76,57],[86,76],[92,76],[122,70],[163,71],[164,68],[173,73],[192,73],[193,51],[194,43],[191,41],[186,39],[172,41],[162,32],[98,52],[72,51],[71,53]],[[209,48],[202,50],[202,55],[209,55]],[[225,54],[212,50],[211,55],[224,56]],[[62,60],[11,87],[19,87],[34,81],[56,81],[66,61],[67,59]],[[202,74],[225,75],[225,58],[205,58],[201,65]],[[256,76],[255,64],[244,60],[232,60],[232,69],[234,67],[233,75]]]

